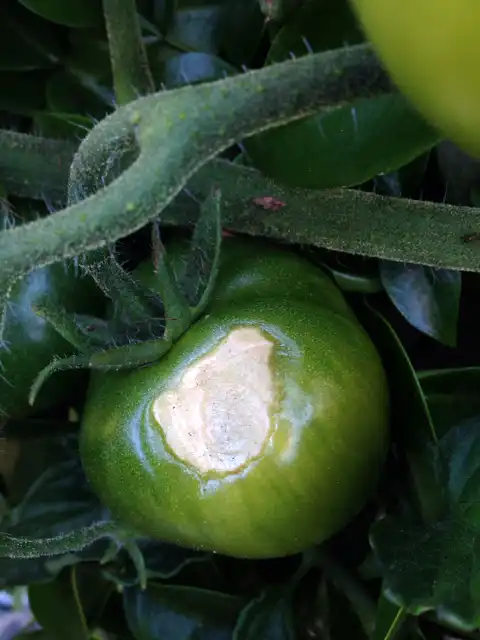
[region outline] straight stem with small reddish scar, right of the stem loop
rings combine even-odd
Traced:
[[[38,145],[32,151],[39,151],[39,159],[41,149]],[[59,171],[52,183],[59,191],[62,174],[65,171]],[[480,243],[475,237],[465,241],[480,231],[480,210],[473,207],[386,198],[353,189],[292,189],[255,169],[218,159],[207,162],[187,183],[198,201],[208,196],[212,185],[221,189],[222,223],[232,231],[372,258],[480,271]],[[274,196],[286,206],[279,211],[260,209],[253,199],[261,196]],[[182,193],[161,217],[165,225],[192,227],[198,204]]]

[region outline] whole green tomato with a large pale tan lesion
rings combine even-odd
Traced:
[[[208,313],[160,361],[95,373],[80,453],[100,499],[140,534],[268,558],[321,542],[364,506],[388,446],[388,391],[327,276],[249,247],[243,259],[245,244],[225,243]]]

